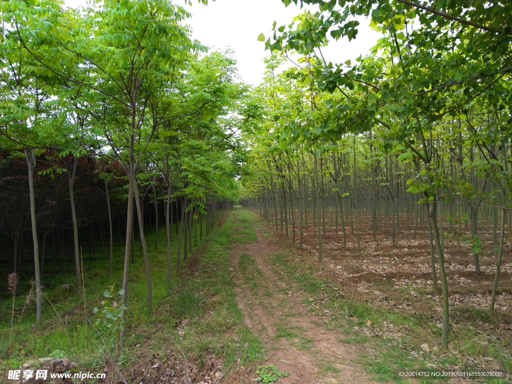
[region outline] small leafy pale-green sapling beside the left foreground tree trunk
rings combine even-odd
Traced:
[[[95,307],[93,312],[98,317],[95,325],[98,331],[101,333],[104,345],[99,349],[99,354],[105,354],[107,356],[112,356],[114,351],[117,351],[117,347],[121,341],[120,332],[124,330],[124,321],[123,321],[123,312],[126,307],[123,304],[117,304],[115,301],[115,296],[121,296],[124,293],[124,290],[120,289],[117,293],[114,292],[114,285],[108,287],[103,292],[103,296],[106,298],[113,298],[113,302],[111,303],[108,300],[101,302],[103,305],[103,309],[99,309]],[[121,297],[119,297],[119,302],[122,303]],[[124,336],[122,336],[124,337]]]

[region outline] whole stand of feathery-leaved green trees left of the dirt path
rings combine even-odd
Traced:
[[[179,269],[196,226],[208,233],[237,196],[245,152],[234,135],[253,124],[258,105],[236,82],[230,53],[206,54],[190,38],[189,13],[168,1],[84,9],[11,1],[0,14],[1,169],[3,194],[12,196],[0,212],[1,235],[16,248],[30,227],[37,321],[48,236],[61,251],[67,240],[81,294],[80,246],[89,237],[91,249],[99,234],[112,273],[116,227],[124,240],[123,304],[138,236],[151,309],[148,226],[156,246],[165,222],[170,282],[171,259]],[[170,250],[174,224],[177,255]],[[19,272],[17,252],[7,254]]]

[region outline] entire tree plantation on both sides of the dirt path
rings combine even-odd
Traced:
[[[238,82],[231,52],[191,39],[177,3],[1,3],[0,246],[5,271],[35,281],[37,322],[45,279],[73,274],[82,295],[95,247],[112,275],[117,246],[113,329],[125,336],[136,253],[151,312],[148,248],[158,228],[169,289],[197,231],[201,240],[202,226],[209,232],[238,201],[311,247],[318,263],[326,247],[367,259],[370,241],[395,249],[398,238],[424,234],[443,347],[446,247],[471,257],[475,279],[492,274],[494,311],[512,228],[512,5],[293,2],[318,11],[254,36],[270,52],[255,88]],[[382,36],[371,52],[329,61],[324,47],[357,44],[362,20]],[[480,266],[489,247],[491,272]]]

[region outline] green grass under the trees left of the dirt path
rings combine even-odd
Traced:
[[[145,270],[143,260],[136,252],[136,262],[130,265],[127,291],[127,338],[119,359],[121,364],[127,366],[135,361],[141,345],[161,353],[162,356],[166,356],[169,351],[176,353],[177,348],[169,342],[169,339],[174,340],[187,356],[194,356],[199,366],[203,364],[202,360],[208,354],[222,357],[228,366],[236,358],[239,358],[243,364],[247,361],[260,361],[265,357],[258,338],[243,324],[242,313],[235,301],[235,286],[228,262],[232,224],[233,218],[230,216],[222,227],[216,226],[212,229],[208,237],[203,233],[202,244],[199,244],[198,233],[198,248],[201,247],[201,249],[197,273],[190,275],[185,262],[182,263],[181,272],[177,274],[176,260],[173,260],[173,281],[170,286],[167,285],[165,228],[159,232],[158,250],[154,250],[154,235],[146,236],[152,274],[154,310],[151,312],[146,307]],[[176,247],[177,240],[174,237],[172,243],[174,258],[176,258]],[[191,253],[189,252],[189,259]],[[114,273],[111,278],[108,273],[104,273],[108,261],[97,260],[98,252],[94,255],[93,263],[84,268],[87,312],[91,320],[93,320],[91,310],[103,300],[102,292],[105,286],[121,285],[123,257],[122,250],[114,251]],[[57,276],[55,280],[47,276],[45,278],[46,283],[51,283],[53,287],[68,282],[73,283],[74,280],[69,273],[67,279],[63,276]],[[83,297],[79,297],[73,289],[45,288],[43,292],[47,298],[44,298],[42,321],[35,325],[35,303],[31,302],[20,322],[19,333],[13,347],[11,367],[17,368],[29,359],[56,354],[69,356],[73,360],[86,359],[87,335],[84,325]],[[24,302],[22,297],[16,301],[15,327]],[[12,306],[12,300],[11,302],[2,301],[0,353],[4,367],[7,364],[5,358],[9,348],[10,306]],[[59,320],[59,316],[66,326]],[[178,333],[176,327],[185,319],[188,319],[188,324],[183,333]],[[94,356],[97,350],[94,342],[99,342],[99,338],[90,326],[89,337],[93,339],[90,339],[89,344],[91,355]],[[235,342],[234,338],[239,341]]]

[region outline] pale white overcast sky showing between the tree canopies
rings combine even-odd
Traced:
[[[66,0],[66,5],[78,7],[86,5],[85,0]],[[176,0],[178,5],[184,2]],[[234,51],[234,58],[238,61],[240,78],[255,86],[261,83],[265,65],[263,58],[269,55],[265,51],[265,44],[258,41],[258,35],[265,37],[273,34],[274,20],[277,27],[288,25],[294,16],[302,13],[300,7],[291,3],[288,8],[281,0],[216,0],[207,6],[198,4],[193,0],[193,6],[186,7],[193,17],[188,24],[193,29],[192,37],[201,41],[203,45],[213,49],[224,50],[230,48]],[[316,12],[317,7],[310,7]],[[377,39],[381,37],[369,27],[370,20],[359,19],[359,33],[356,40],[350,43],[348,38],[339,39],[324,49],[325,59],[332,62],[352,61],[362,54],[367,55]],[[288,63],[287,66],[292,65]]]

